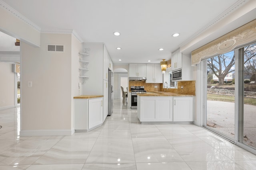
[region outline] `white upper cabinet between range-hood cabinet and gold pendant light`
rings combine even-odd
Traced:
[[[146,83],[162,83],[162,77],[160,64],[146,64]]]

